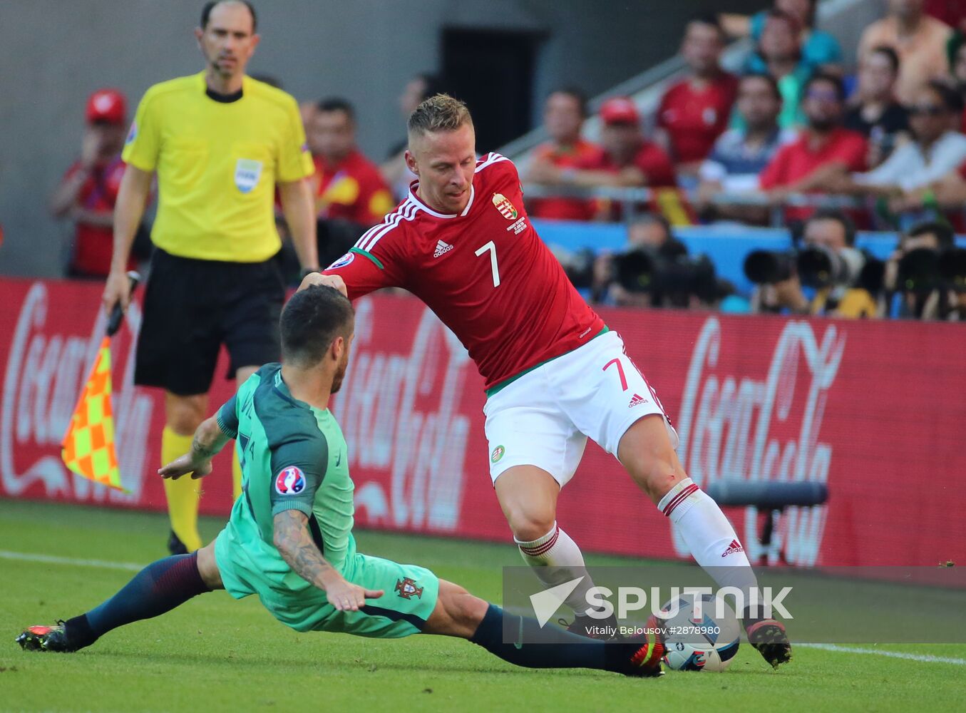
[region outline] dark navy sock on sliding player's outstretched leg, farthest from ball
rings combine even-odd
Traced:
[[[211,589],[198,572],[198,553],[164,557],[99,607],[67,621],[68,636],[79,646],[89,646],[111,629],[169,612],[206,591]]]

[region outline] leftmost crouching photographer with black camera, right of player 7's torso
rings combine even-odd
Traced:
[[[627,250],[602,254],[593,267],[593,298],[618,306],[713,307],[730,292],[706,256],[688,254],[663,215],[640,215],[628,226]]]

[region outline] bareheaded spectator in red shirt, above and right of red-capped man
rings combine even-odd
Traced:
[[[678,174],[695,176],[727,128],[738,79],[721,68],[724,49],[725,34],[714,16],[688,23],[681,55],[691,75],[668,87],[657,113]]]

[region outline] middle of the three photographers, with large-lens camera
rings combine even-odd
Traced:
[[[754,250],[745,274],[757,287],[753,312],[790,312],[847,319],[879,314],[874,295],[883,265],[857,250],[855,225],[840,211],[818,211],[805,223],[797,251]],[[806,297],[803,288],[814,289]]]

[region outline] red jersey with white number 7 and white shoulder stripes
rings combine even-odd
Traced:
[[[487,388],[604,328],[530,224],[509,158],[476,162],[461,214],[431,209],[416,197],[417,184],[325,271],[346,281],[350,299],[381,287],[409,290],[456,334]]]

